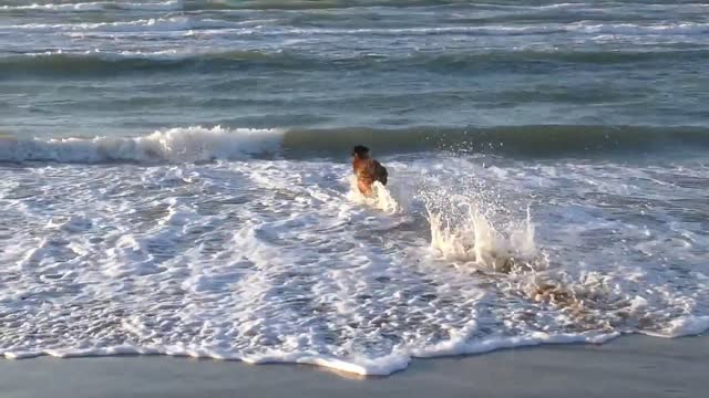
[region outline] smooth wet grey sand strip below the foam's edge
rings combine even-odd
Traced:
[[[2,397],[703,397],[709,338],[627,336],[414,359],[389,377],[167,356],[0,360]]]

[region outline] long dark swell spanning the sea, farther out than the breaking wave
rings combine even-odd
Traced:
[[[218,72],[240,67],[274,67],[282,70],[361,70],[374,66],[424,69],[430,71],[465,71],[474,69],[500,70],[528,63],[618,64],[634,62],[671,61],[681,56],[685,61],[709,59],[709,49],[657,49],[645,51],[480,51],[435,54],[412,52],[405,55],[358,54],[301,54],[287,51],[219,51],[171,49],[161,51],[90,51],[68,53],[63,51],[33,52],[0,56],[0,67],[6,76],[19,75],[115,75],[136,72],[165,72],[198,70]]]

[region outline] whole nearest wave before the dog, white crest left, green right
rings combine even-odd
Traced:
[[[194,163],[249,156],[331,158],[364,143],[378,154],[482,153],[514,157],[564,157],[709,148],[699,127],[510,126],[495,128],[246,129],[172,128],[140,137],[0,137],[0,161]]]

